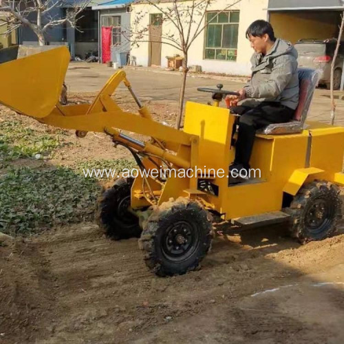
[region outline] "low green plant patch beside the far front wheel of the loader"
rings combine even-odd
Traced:
[[[0,178],[0,232],[30,235],[56,225],[94,219],[101,186],[96,178],[85,178],[83,168],[135,166],[126,159],[92,160],[73,167],[38,170],[10,169]]]

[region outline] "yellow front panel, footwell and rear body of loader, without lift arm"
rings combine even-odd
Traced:
[[[200,165],[228,171],[234,160],[230,147],[233,120],[226,109],[186,105],[184,131],[200,136]],[[299,134],[257,135],[250,165],[261,171],[260,178],[253,184],[233,186],[228,186],[227,178],[211,179],[219,186],[219,195],[206,195],[208,204],[224,218],[233,219],[279,211],[283,193],[296,195],[305,182],[314,179],[344,185],[344,128],[319,122],[307,126]]]

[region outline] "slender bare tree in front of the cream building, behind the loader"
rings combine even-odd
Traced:
[[[241,0],[227,0],[222,8],[212,5],[215,0],[138,0],[136,4],[146,3],[153,6],[156,13],[160,14],[159,21],[166,25],[167,30],[161,35],[162,44],[170,45],[183,54],[182,61],[182,84],[180,87],[179,109],[177,128],[182,125],[182,113],[184,109],[184,94],[186,76],[189,72],[188,58],[189,49],[198,36],[204,31],[208,23],[206,13],[208,10],[216,12],[212,20],[215,20],[222,12],[233,8]],[[144,10],[138,12],[131,25],[130,39],[132,45],[139,45],[142,42],[150,42],[154,36],[149,34],[149,25],[142,26],[142,18],[147,15]],[[160,37],[160,36],[159,36]]]

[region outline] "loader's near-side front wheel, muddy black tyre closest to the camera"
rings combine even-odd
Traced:
[[[211,215],[195,201],[182,197],[156,208],[142,231],[144,260],[158,276],[196,270],[211,247]]]

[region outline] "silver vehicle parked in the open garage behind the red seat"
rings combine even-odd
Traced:
[[[325,84],[330,89],[331,64],[336,50],[336,39],[301,39],[295,43],[299,52],[299,67],[310,67],[323,70],[319,84]],[[344,62],[344,42],[341,42],[336,66],[334,67],[334,89],[341,87]]]

